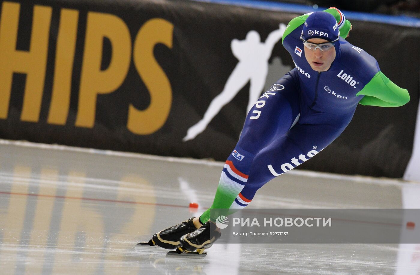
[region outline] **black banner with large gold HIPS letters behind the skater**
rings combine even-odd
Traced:
[[[294,67],[278,33],[298,14],[183,0],[1,4],[0,138],[224,161],[250,90],[265,91]],[[359,106],[344,133],[299,168],[402,177],[419,102],[420,31],[352,25],[348,41],[411,101]],[[265,49],[238,46],[252,39]],[[265,79],[259,66],[268,66]],[[222,91],[229,100],[184,141]]]

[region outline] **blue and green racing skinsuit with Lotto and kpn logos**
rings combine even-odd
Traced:
[[[338,23],[345,21],[339,10],[325,11]],[[343,22],[347,31],[340,31],[331,67],[320,73],[312,70],[300,40],[307,16],[294,18],[283,35],[283,46],[296,68],[265,92],[248,113],[225,163],[212,208],[245,207],[262,185],[335,140],[352,120],[357,104],[391,107],[409,101],[407,90],[386,78],[375,58],[344,40],[349,21]],[[201,221],[210,218],[209,211]]]

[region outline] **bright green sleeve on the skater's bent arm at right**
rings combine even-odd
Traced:
[[[396,86],[381,71],[365,85],[356,96],[364,95],[359,101],[361,105],[398,107],[406,104],[410,96],[406,89]]]

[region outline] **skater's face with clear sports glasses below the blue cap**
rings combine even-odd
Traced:
[[[322,38],[311,38],[308,39],[307,42],[320,44],[328,42],[328,40]],[[336,58],[336,49],[331,47],[328,50],[321,51],[318,48],[315,51],[308,49],[307,47],[303,47],[305,51],[305,57],[309,65],[311,66],[312,70],[317,72],[323,72],[328,70],[331,67],[331,63]]]

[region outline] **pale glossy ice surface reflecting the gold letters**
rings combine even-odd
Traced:
[[[215,244],[204,259],[168,258],[135,244],[210,206],[222,163],[11,144],[0,145],[0,156],[1,274],[420,272],[417,244]],[[404,192],[416,200],[419,186],[291,171],[250,207],[402,208]],[[189,202],[199,203],[197,213]]]

